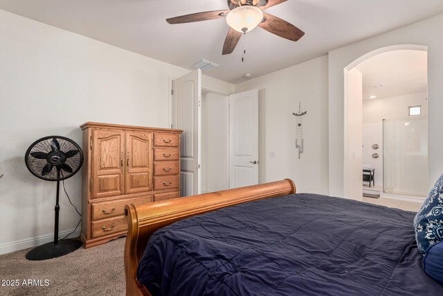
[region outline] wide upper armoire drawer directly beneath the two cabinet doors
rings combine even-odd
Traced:
[[[124,214],[125,204],[144,204],[152,202],[152,195],[143,196],[142,198],[131,198],[127,200],[115,200],[110,202],[96,202],[92,204],[91,214],[92,220],[100,220],[111,218]]]

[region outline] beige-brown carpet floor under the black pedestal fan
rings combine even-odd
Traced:
[[[118,238],[43,261],[27,260],[30,249],[1,255],[0,295],[125,295],[124,249],[125,238]],[[41,286],[24,286],[28,279],[39,279]],[[8,280],[18,280],[19,286]]]

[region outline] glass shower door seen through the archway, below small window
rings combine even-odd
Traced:
[[[428,191],[428,119],[383,120],[383,192],[424,197]]]

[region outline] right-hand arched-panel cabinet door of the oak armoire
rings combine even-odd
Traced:
[[[126,193],[152,190],[152,133],[126,132]]]

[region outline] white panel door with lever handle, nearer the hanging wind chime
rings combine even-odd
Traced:
[[[229,186],[258,184],[258,90],[229,96]]]

